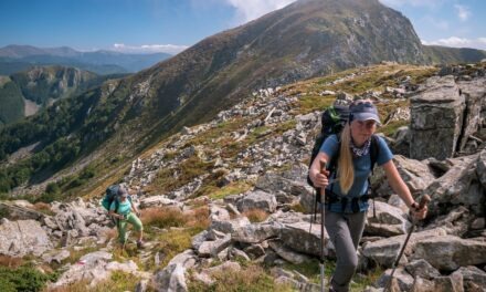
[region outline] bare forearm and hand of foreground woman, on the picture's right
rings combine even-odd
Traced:
[[[399,174],[393,160],[389,160],[383,165],[384,173],[387,174],[388,182],[391,188],[400,196],[400,198],[405,202],[406,207],[414,213],[414,216],[419,219],[425,218],[427,208],[416,210],[418,202],[413,199],[412,194],[410,192],[409,187],[403,181],[402,177]]]

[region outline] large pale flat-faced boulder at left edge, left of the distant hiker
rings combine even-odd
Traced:
[[[23,257],[41,255],[53,248],[41,225],[34,220],[6,221],[0,225],[0,253]]]

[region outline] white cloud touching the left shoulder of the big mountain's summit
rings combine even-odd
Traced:
[[[263,14],[284,8],[296,0],[224,0],[236,9],[236,22],[245,23]]]

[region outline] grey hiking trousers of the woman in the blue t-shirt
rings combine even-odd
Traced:
[[[326,231],[336,248],[336,270],[330,286],[337,292],[349,291],[349,283],[358,267],[358,249],[367,212],[338,213],[326,211]]]

